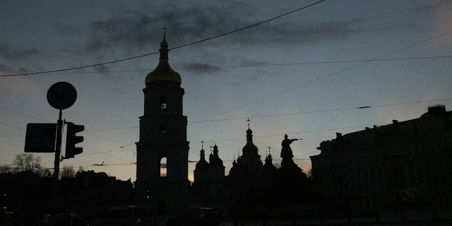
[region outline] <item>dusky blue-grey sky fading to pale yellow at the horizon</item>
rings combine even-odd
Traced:
[[[61,73],[7,75],[157,52],[164,26],[169,48],[179,47],[316,1],[181,2],[1,1],[0,165],[23,153],[28,123],[57,122],[47,90],[66,81],[78,97],[63,119],[85,125],[85,141],[83,154],[61,167],[82,165],[134,182],[142,89],[158,54]],[[420,117],[430,105],[450,111],[451,59],[451,1],[425,0],[327,0],[169,51],[185,90],[189,160],[199,160],[201,140],[206,154],[216,143],[226,172],[246,143],[247,117],[262,160],[270,146],[274,163],[280,162],[287,133],[302,138],[292,150],[308,170],[309,156],[335,133]],[[39,155],[44,167],[53,167],[53,153]],[[191,180],[195,164],[189,164]]]

